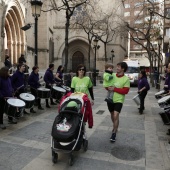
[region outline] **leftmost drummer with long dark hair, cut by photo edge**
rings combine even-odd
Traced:
[[[13,88],[11,84],[11,79],[9,75],[9,68],[2,67],[0,69],[0,106],[6,105],[6,100],[13,96]],[[5,112],[5,107],[0,109],[0,128],[6,129],[6,126],[3,124],[3,114]],[[16,124],[17,121],[15,118],[8,117],[8,122],[11,124]]]

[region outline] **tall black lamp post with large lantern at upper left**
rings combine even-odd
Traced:
[[[35,66],[38,64],[38,17],[41,14],[41,7],[42,7],[41,0],[32,0],[31,7],[32,7],[32,16],[35,19],[35,58],[34,64]]]

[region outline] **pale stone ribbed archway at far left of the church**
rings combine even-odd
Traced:
[[[20,29],[23,25],[23,12],[19,2],[14,1],[7,11],[4,28],[4,50],[12,63],[17,63],[20,55],[25,53],[25,33]]]

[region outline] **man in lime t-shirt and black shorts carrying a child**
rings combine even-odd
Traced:
[[[108,87],[108,90],[114,91],[113,103],[107,102],[113,122],[113,131],[110,138],[111,142],[116,141],[116,132],[119,126],[119,113],[121,112],[123,102],[125,100],[125,94],[127,94],[130,89],[130,80],[126,75],[124,75],[124,72],[126,72],[127,69],[128,66],[125,62],[118,63],[117,73],[113,74],[114,87]]]

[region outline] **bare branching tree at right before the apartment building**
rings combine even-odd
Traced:
[[[143,0],[140,1],[139,5],[140,8],[139,6],[136,6],[139,11],[138,15],[136,15],[133,22],[126,24],[130,34],[130,39],[136,44],[139,44],[143,50],[146,50],[146,57],[150,62],[151,73],[153,70],[153,55],[158,57],[158,61],[161,59],[158,54],[158,48],[155,47],[155,41],[157,41],[159,35],[162,34],[161,31],[163,24],[160,16],[162,15],[162,4],[155,3],[151,0]],[[160,15],[155,15],[155,11],[159,11]],[[142,12],[143,15],[141,15]],[[151,83],[154,86],[152,76]]]

